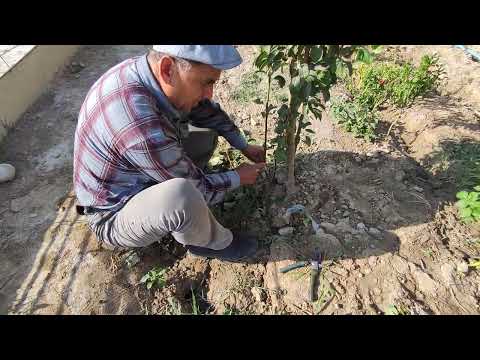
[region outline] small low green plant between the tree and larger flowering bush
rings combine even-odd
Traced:
[[[348,132],[367,141],[376,139],[378,116],[358,101],[332,100],[331,111],[336,121]]]

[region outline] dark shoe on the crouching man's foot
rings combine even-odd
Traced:
[[[239,233],[233,234],[232,243],[222,250],[192,245],[187,245],[186,248],[193,256],[235,262],[252,257],[257,252],[257,239],[252,235]]]

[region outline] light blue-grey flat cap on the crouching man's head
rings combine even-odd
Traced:
[[[153,50],[219,70],[232,69],[242,63],[242,57],[233,45],[153,45]]]

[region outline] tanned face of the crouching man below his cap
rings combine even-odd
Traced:
[[[183,70],[176,64],[174,75],[175,106],[182,112],[189,113],[203,99],[213,97],[213,87],[220,78],[221,70],[205,64],[192,64]]]

